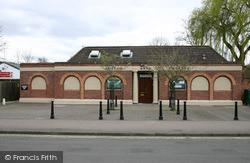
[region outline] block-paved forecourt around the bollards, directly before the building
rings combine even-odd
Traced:
[[[99,105],[55,105],[55,118],[59,120],[98,120]],[[106,105],[103,105],[104,120],[119,120],[120,106],[106,114]],[[154,121],[159,119],[157,104],[134,104],[123,106],[124,119],[127,121]],[[250,107],[238,106],[240,121],[250,121]],[[50,104],[24,104],[10,102],[0,106],[0,119],[38,119],[50,118]],[[187,105],[189,121],[232,121],[234,106],[189,106]],[[170,111],[163,105],[163,121],[182,121],[183,106],[180,114]]]

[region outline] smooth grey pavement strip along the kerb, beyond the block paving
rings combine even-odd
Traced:
[[[250,122],[0,119],[0,133],[121,136],[250,136]]]

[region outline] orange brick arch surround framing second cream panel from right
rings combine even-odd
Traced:
[[[211,100],[212,99],[212,90],[211,90],[211,77],[205,73],[195,73],[194,75],[192,75],[189,80],[188,80],[188,100],[191,100],[191,95],[194,95],[194,96],[198,96],[199,97],[199,94],[202,95],[203,93],[200,91],[192,91],[191,90],[191,84],[192,84],[192,81],[194,78],[196,77],[204,77],[206,78],[207,82],[208,82],[208,90],[207,90],[207,96],[208,98],[206,98],[206,100]],[[204,92],[205,90],[203,90]],[[193,92],[193,94],[192,94]],[[197,94],[197,95],[196,95]],[[192,98],[193,99],[204,99],[205,97],[202,97],[200,96],[199,98]]]

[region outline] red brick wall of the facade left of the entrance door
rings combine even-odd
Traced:
[[[34,66],[34,64],[32,64]],[[30,66],[30,64],[25,65]],[[49,65],[51,66],[51,65]],[[80,81],[81,90],[80,91],[64,91],[64,81],[61,81],[62,77],[65,74],[71,74],[70,76],[77,75],[80,80],[84,78],[84,76],[88,75],[90,72],[84,72],[84,71],[56,71],[56,72],[50,72],[50,71],[43,71],[43,72],[33,72],[33,71],[22,71],[21,72],[21,85],[27,84],[29,90],[27,91],[21,91],[21,98],[27,98],[27,97],[39,97],[39,98],[56,98],[56,99],[62,99],[62,98],[68,98],[68,99],[81,99],[81,93],[83,94],[83,99],[101,99],[102,91],[90,91],[90,90],[83,90],[84,89],[84,81]],[[72,75],[73,74],[73,75]],[[91,71],[91,74],[99,74],[102,77],[102,82],[105,82],[106,75],[105,72],[100,71]],[[118,99],[128,99],[132,100],[132,72],[128,71],[122,71],[119,72],[120,77],[123,78],[123,89],[122,90],[116,90],[115,94],[118,95]],[[45,91],[32,91],[31,90],[31,78],[34,76],[42,76],[46,78],[47,81],[47,89]],[[66,78],[65,78],[66,79]],[[62,82],[62,83],[60,83]],[[101,84],[103,87],[103,84]],[[105,87],[105,86],[104,86]],[[104,97],[107,96],[106,88],[102,88],[104,90]],[[54,94],[54,92],[56,92]]]

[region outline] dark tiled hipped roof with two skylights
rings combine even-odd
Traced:
[[[209,46],[105,46],[105,47],[84,47],[77,52],[68,63],[71,64],[99,64],[100,59],[89,58],[92,50],[99,50],[101,53],[105,51],[109,54],[120,55],[123,50],[131,50],[132,58],[123,58],[123,63],[146,64],[152,61],[152,51],[162,48],[166,51],[166,55],[177,52],[178,55],[186,55],[193,63],[221,64],[228,62],[219,53]],[[204,59],[205,56],[205,59]]]

